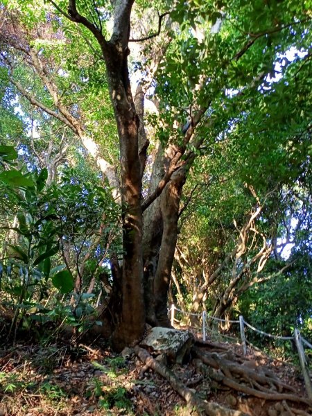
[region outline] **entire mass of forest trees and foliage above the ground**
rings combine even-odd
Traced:
[[[122,349],[174,302],[311,340],[311,6],[1,3],[11,336]]]

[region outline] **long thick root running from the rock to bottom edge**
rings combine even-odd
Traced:
[[[155,372],[163,376],[171,384],[171,387],[181,396],[189,406],[193,406],[198,410],[200,414],[206,414],[209,416],[248,416],[246,413],[241,412],[240,410],[231,410],[220,406],[214,402],[207,402],[200,399],[190,388],[187,388],[171,370],[164,365],[156,361],[146,349],[135,347],[135,354],[143,361],[148,367],[153,369]]]

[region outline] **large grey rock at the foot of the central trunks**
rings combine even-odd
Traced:
[[[193,342],[194,337],[191,332],[154,327],[146,338],[141,341],[140,345],[153,352],[166,354],[170,360],[182,364],[184,357],[189,354]]]

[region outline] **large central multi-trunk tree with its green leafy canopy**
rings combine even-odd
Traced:
[[[119,136],[123,258],[121,265],[114,262],[112,275],[121,288],[114,300],[117,305],[121,302],[121,311],[113,335],[115,346],[121,348],[143,335],[146,322],[168,324],[166,299],[179,232],[180,200],[189,170],[205,148],[220,141],[226,143],[244,121],[252,122],[254,113],[250,108],[263,103],[273,92],[277,101],[281,100],[279,88],[273,87],[269,78],[275,76],[277,62],[283,62],[283,74],[299,67],[296,76],[302,75],[302,67],[306,69],[309,64],[310,5],[309,1],[303,6],[296,1],[256,1],[252,5],[243,1],[177,1],[173,5],[159,1],[155,21],[144,1],[49,3],[59,14],[59,20],[55,20],[58,30],[67,28],[68,21],[76,24],[70,27],[78,43],[86,38],[94,57],[100,55],[105,63]],[[28,26],[51,19],[53,9],[49,6],[38,17],[29,7],[31,1],[24,2],[24,8],[15,1],[10,4],[19,9]],[[131,26],[131,22],[143,18],[155,24],[155,33],[140,35],[140,30]],[[164,35],[157,44],[155,38],[162,30]],[[137,65],[141,76],[133,95],[128,59],[131,42],[135,41],[144,46]],[[53,77],[56,69],[46,71],[46,60],[41,59],[43,46],[31,43],[23,52],[53,98],[44,110],[67,125],[93,151],[98,166],[102,166],[112,188],[117,189],[114,166],[103,159],[101,148],[87,135],[86,123],[60,94]],[[291,46],[302,50],[302,55],[293,61],[284,58]],[[282,84],[281,80],[279,85]],[[40,107],[40,102],[22,88],[17,86],[33,105]],[[153,129],[144,116],[148,94],[153,95],[157,107],[156,117],[150,116]],[[273,115],[268,114],[272,123]],[[255,133],[260,121],[258,117],[254,120],[257,143],[260,137]],[[148,139],[155,142],[155,138],[148,138],[147,127],[156,131],[155,138],[159,140],[151,160],[153,166],[147,150]],[[281,128],[279,124],[277,135]],[[306,130],[305,120],[295,129]],[[207,156],[214,157],[209,152]],[[150,184],[143,198],[146,177]]]

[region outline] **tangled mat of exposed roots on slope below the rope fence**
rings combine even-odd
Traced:
[[[236,364],[225,358],[221,358],[216,353],[203,353],[198,347],[193,347],[192,354],[199,358],[193,360],[198,371],[205,376],[208,376],[211,380],[217,381],[219,384],[226,385],[233,390],[258,397],[259,399],[275,401],[288,400],[311,406],[311,401],[304,399],[304,397],[282,393],[283,389],[293,390],[293,388],[281,383],[276,376],[272,376],[270,371],[263,371],[261,369],[259,372],[256,368],[250,370],[244,365]],[[218,370],[218,372],[215,370]],[[252,387],[249,387],[245,383],[240,383],[241,379],[245,383],[252,385]],[[267,388],[266,385],[270,388]],[[255,389],[254,386],[257,386],[257,389]],[[291,412],[291,410],[289,410],[289,412]]]

